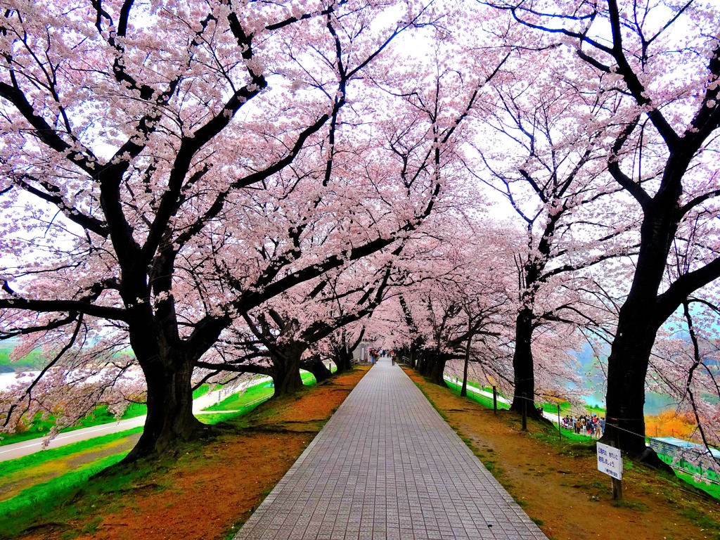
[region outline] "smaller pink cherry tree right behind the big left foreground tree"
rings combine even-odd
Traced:
[[[372,314],[392,282],[395,257],[377,254],[348,268],[328,271],[322,278],[279,294],[251,312],[243,312],[215,347],[222,354],[196,366],[220,372],[266,374],[273,378],[275,396],[302,388],[300,369],[318,382],[330,371],[310,348],[337,330]],[[381,266],[374,267],[374,261]],[[358,273],[361,272],[361,276]],[[351,351],[352,352],[352,351]]]

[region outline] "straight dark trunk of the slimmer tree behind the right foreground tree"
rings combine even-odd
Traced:
[[[515,372],[515,397],[510,410],[521,413],[526,407],[528,415],[539,415],[535,408],[535,366],[532,351],[533,312],[523,308],[518,312],[515,322],[515,352],[513,371]]]

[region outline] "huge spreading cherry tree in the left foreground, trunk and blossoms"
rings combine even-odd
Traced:
[[[84,325],[129,344],[148,418],[128,459],[202,429],[191,407],[195,362],[241,312],[392,243],[390,233],[356,236],[298,262],[299,224],[263,259],[263,238],[233,241],[258,224],[235,212],[248,192],[291,178],[282,171],[306,152],[325,156],[310,179],[327,187],[341,110],[361,73],[421,17],[412,3],[225,0],[18,2],[4,11],[3,336],[57,351],[48,370],[81,346]],[[429,185],[413,192],[423,202],[396,231],[429,212],[438,189]],[[222,283],[217,270],[252,248],[264,263]],[[38,397],[28,387],[3,410],[4,424]]]

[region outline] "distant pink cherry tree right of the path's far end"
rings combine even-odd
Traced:
[[[412,246],[396,318],[407,325],[406,346],[420,373],[445,384],[446,364],[462,359],[467,384],[469,361],[502,356],[498,341],[509,341],[511,258],[500,248],[503,235],[487,222],[448,213],[426,225],[428,236]]]

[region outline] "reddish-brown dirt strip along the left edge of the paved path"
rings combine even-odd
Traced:
[[[228,429],[198,451],[179,456],[171,467],[102,500],[81,494],[72,502],[81,518],[48,523],[22,538],[232,538],[366,371],[335,377],[298,397],[266,402],[239,433]]]

